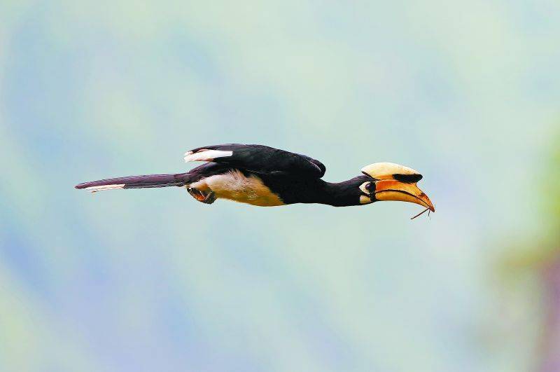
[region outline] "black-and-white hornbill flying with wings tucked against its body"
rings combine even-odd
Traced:
[[[207,162],[186,173],[150,174],[85,182],[76,188],[96,192],[117,188],[185,187],[206,204],[229,199],[261,207],[298,202],[335,207],[378,200],[414,202],[435,211],[417,186],[422,175],[394,163],[374,163],[362,175],[337,183],[323,181],[325,165],[309,156],[255,144],[221,144],[188,151],[185,161]]]

